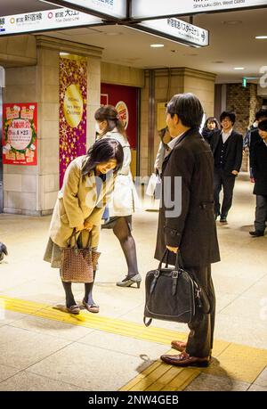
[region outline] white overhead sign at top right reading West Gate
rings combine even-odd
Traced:
[[[267,6],[267,0],[153,0],[153,4],[149,1],[134,0],[131,17],[133,19],[150,19],[261,6]]]

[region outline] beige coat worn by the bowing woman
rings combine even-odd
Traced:
[[[85,221],[93,225],[92,247],[97,247],[99,243],[101,217],[114,188],[115,174],[111,172],[107,175],[97,197],[94,172],[92,171],[85,178],[81,174],[85,159],[86,156],[79,156],[70,163],[53,209],[49,235],[60,247],[67,247],[74,227],[83,225]],[[88,239],[88,233],[86,237],[85,232],[83,231],[84,245]]]

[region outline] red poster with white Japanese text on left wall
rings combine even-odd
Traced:
[[[37,104],[4,103],[3,163],[36,166]]]

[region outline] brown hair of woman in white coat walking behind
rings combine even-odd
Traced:
[[[98,110],[95,111],[94,119],[99,121],[106,120],[108,123],[101,136],[107,134],[107,132],[109,131],[113,131],[113,129],[117,127],[117,132],[124,135],[125,138],[127,137],[125,133],[125,127],[122,121],[119,119],[117,110],[113,105],[101,106]]]

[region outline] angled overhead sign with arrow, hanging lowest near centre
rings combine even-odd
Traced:
[[[209,44],[206,29],[174,18],[142,21],[134,28],[187,45],[205,47]]]

